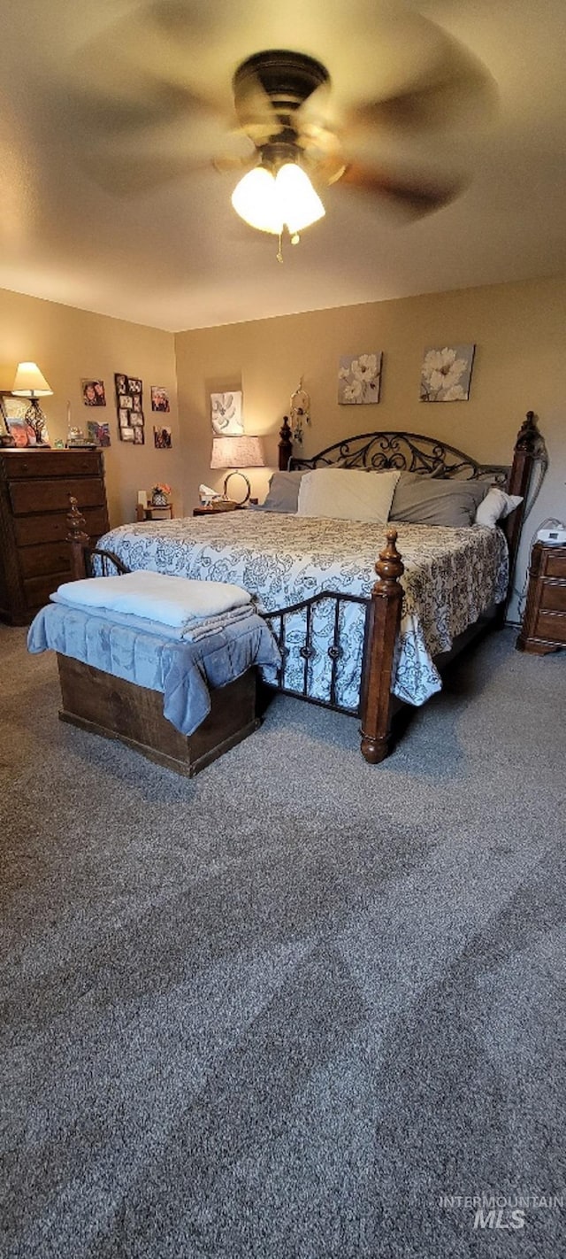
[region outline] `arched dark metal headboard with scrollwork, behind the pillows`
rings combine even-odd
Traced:
[[[423,472],[429,476],[455,477],[459,481],[489,480],[493,485],[507,485],[509,466],[478,463],[469,454],[436,438],[420,433],[361,433],[348,437],[311,460],[293,457],[289,468],[321,468],[338,466],[382,472],[397,468]]]

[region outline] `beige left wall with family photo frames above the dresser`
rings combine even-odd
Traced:
[[[42,403],[52,444],[67,438],[67,402],[72,424],[87,429],[88,419],[109,423],[111,447],[104,449],[106,483],[112,524],[136,517],[137,490],[155,481],[172,487],[175,510],[181,510],[179,421],[176,405],[175,350],[170,332],[127,324],[125,320],[91,315],[87,311],[24,297],[0,290],[0,389],[11,389],[18,363],[36,363],[53,389]],[[146,444],[121,442],[114,405],[114,371],[143,380]],[[80,379],[102,379],[104,408],[86,407]],[[170,390],[171,414],[151,412],[150,385]],[[153,421],[172,429],[172,448],[157,451]]]

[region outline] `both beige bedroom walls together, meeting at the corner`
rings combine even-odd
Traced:
[[[282,417],[301,375],[312,402],[306,454],[348,434],[404,428],[444,438],[479,460],[507,462],[526,412],[535,410],[546,438],[550,470],[524,528],[518,587],[537,526],[551,516],[566,519],[565,279],[313,311],[199,329],[176,337],[0,291],[0,388],[11,388],[20,360],[39,364],[54,390],[44,403],[52,442],[67,436],[67,400],[72,423],[86,426],[93,414],[82,403],[80,379],[104,380],[108,404],[94,414],[109,422],[112,433],[112,446],[104,453],[112,524],[132,520],[137,490],[150,488],[156,480],[172,486],[177,515],[182,510],[190,514],[200,481],[221,487],[223,473],[211,472],[209,466],[209,394],[225,389],[243,390],[245,429],[265,436],[270,468],[249,473],[253,492],[262,499],[270,470],[277,467]],[[420,403],[423,347],[468,341],[477,346],[469,402]],[[380,349],[384,376],[379,407],[338,407],[340,356]],[[143,447],[119,442],[114,371],[143,380]],[[148,409],[152,384],[170,389],[171,451],[153,447],[156,417]]]

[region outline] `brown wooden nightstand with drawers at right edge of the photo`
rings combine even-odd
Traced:
[[[566,647],[566,546],[535,543],[518,651],[546,656]]]

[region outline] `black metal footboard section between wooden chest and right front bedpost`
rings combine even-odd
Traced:
[[[316,655],[316,648],[313,647],[313,609],[321,603],[332,603],[332,635],[331,641],[326,648],[328,658],[331,660],[331,671],[327,686],[327,697],[314,697],[309,694],[309,661]],[[278,608],[275,612],[262,612],[262,618],[268,622],[269,628],[279,646],[282,655],[282,666],[277,671],[275,681],[267,681],[265,685],[273,690],[280,691],[282,695],[293,695],[296,699],[307,700],[309,704],[318,704],[319,708],[332,709],[336,713],[347,713],[348,716],[360,713],[360,704],[357,709],[345,708],[337,703],[336,699],[336,682],[337,682],[337,670],[338,662],[343,657],[345,646],[341,641],[341,609],[342,606],[348,603],[357,603],[366,608],[365,630],[363,630],[363,653],[361,662],[361,676],[363,676],[363,666],[367,651],[367,608],[371,601],[363,598],[361,594],[338,594],[336,590],[321,590],[319,594],[313,594],[308,599],[302,599],[299,603],[293,603],[288,608]],[[287,624],[289,617],[296,613],[304,612],[304,641],[298,648],[298,655],[304,662],[302,685],[289,686],[286,682],[286,667],[289,657],[289,648],[287,646]]]

